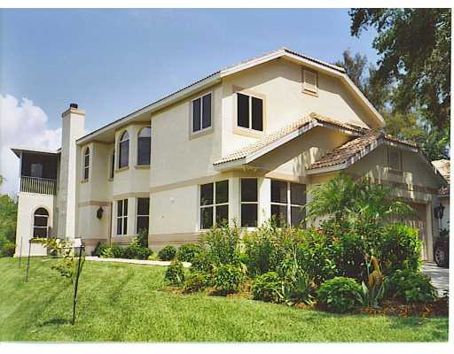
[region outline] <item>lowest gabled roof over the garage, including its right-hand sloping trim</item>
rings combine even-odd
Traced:
[[[419,149],[415,142],[407,142],[396,138],[392,135],[385,134],[380,129],[374,129],[368,133],[357,137],[349,142],[344,143],[339,148],[325,154],[325,156],[312,165],[309,165],[306,170],[309,174],[327,173],[339,171],[348,168],[350,165],[356,164],[361,158],[377,149],[382,144],[388,144],[400,149],[411,150],[417,153],[425,164],[437,175],[439,180],[445,184],[446,181],[436,168],[427,160],[426,156]]]

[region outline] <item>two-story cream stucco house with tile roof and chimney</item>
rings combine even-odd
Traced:
[[[250,228],[277,215],[298,225],[310,189],[344,172],[411,202],[417,215],[408,222],[432,258],[445,181],[415,144],[382,132],[380,113],[338,66],[281,49],[87,135],[84,116],[75,104],[63,113],[59,151],[14,150],[18,247],[55,235],[82,237],[92,250],[146,229],[160,249],[197,242],[223,219]]]

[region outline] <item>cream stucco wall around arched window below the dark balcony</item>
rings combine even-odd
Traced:
[[[28,240],[33,236],[34,214],[36,209],[44,208],[49,212],[48,227],[51,227],[50,235],[57,235],[57,230],[54,228],[54,203],[55,196],[37,193],[19,193],[15,256],[28,255]],[[44,256],[47,254],[47,250],[40,244],[32,243],[30,253],[32,256]]]

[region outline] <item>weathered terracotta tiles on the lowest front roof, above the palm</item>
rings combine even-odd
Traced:
[[[389,142],[398,142],[411,147],[417,147],[414,142],[406,142],[392,135],[385,134],[382,130],[371,130],[363,136],[359,136],[349,142],[344,143],[339,148],[329,151],[323,158],[314,162],[307,169],[313,170],[316,168],[330,167],[340,165],[348,161],[349,158],[354,158],[357,155],[364,153],[367,148],[372,146],[373,142],[377,142],[380,138],[384,138]]]

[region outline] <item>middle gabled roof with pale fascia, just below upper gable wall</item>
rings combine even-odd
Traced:
[[[364,127],[358,127],[353,124],[342,123],[338,120],[321,116],[317,113],[310,113],[308,116],[298,119],[286,127],[278,129],[278,131],[265,135],[262,139],[253,142],[242,149],[236,150],[231,154],[221,158],[213,165],[219,166],[233,161],[241,161],[241,164],[247,164],[255,158],[260,158],[270,150],[278,148],[278,146],[293,140],[295,137],[302,135],[313,127],[331,127],[339,130],[347,131],[352,135],[363,135],[367,131]]]

